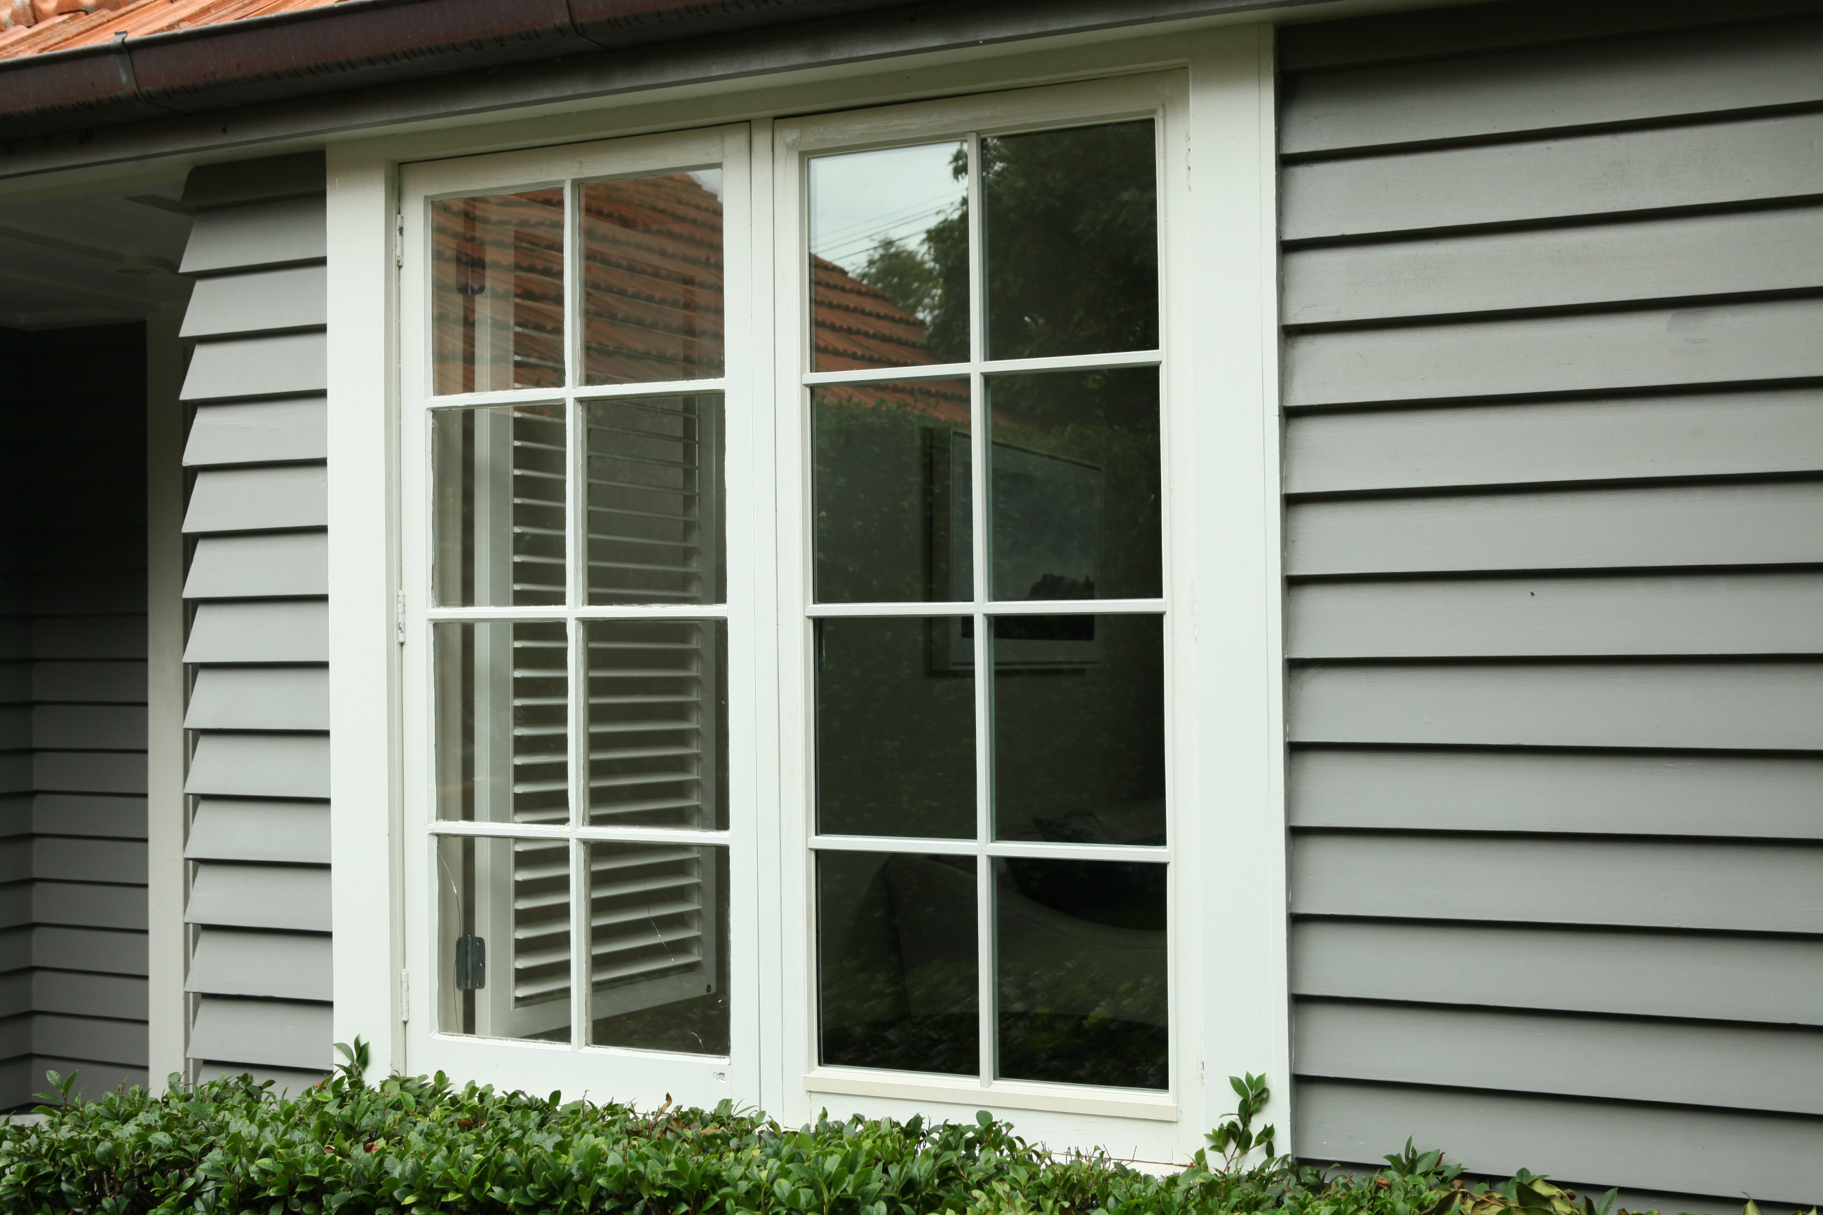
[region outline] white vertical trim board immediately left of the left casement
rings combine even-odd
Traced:
[[[330,922],[334,1040],[407,1067],[399,991],[394,168],[328,151]]]

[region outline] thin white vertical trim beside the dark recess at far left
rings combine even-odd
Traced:
[[[146,1073],[184,1069],[184,353],[180,311],[146,321]]]

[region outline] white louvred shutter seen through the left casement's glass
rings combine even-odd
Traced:
[[[704,525],[716,510],[704,485],[711,479],[700,477],[718,441],[718,410],[702,399],[662,397],[596,403],[589,414],[591,432],[614,437],[613,455],[589,459],[591,597],[634,590],[700,599],[720,543]],[[476,426],[478,461],[494,472],[483,481],[490,492],[476,495],[472,508],[510,512],[512,550],[465,559],[478,568],[505,563],[520,601],[561,601],[561,421],[514,410],[481,415]],[[489,528],[478,521],[470,534],[485,537]],[[722,767],[713,703],[718,634],[706,621],[640,621],[633,636],[616,625],[623,621],[583,625],[589,820],[638,825],[664,816],[713,827]],[[569,792],[565,627],[521,621],[510,638],[505,630],[490,636],[492,643],[478,641],[472,661],[487,665],[485,685],[510,698],[510,714],[476,718],[476,730],[492,730],[476,738],[476,787],[507,801],[516,823],[560,825]],[[487,652],[489,645],[498,652]],[[476,670],[478,681],[483,674]],[[485,980],[483,1033],[532,1036],[569,1018],[569,847],[565,840],[516,840],[510,856],[510,907],[485,913],[487,936],[512,942],[510,982]],[[713,991],[718,960],[704,916],[716,905],[718,876],[706,854],[687,845],[596,843],[587,856],[594,1015]],[[489,862],[478,854],[474,863]],[[479,889],[490,887],[481,880]]]

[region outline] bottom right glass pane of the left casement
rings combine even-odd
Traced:
[[[587,849],[589,1042],[727,1055],[727,849]]]

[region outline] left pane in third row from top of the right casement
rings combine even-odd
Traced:
[[[955,618],[817,621],[817,831],[975,838],[975,679]]]

